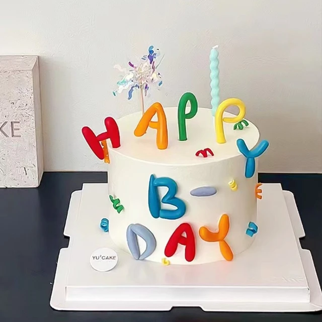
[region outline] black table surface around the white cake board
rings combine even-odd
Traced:
[[[106,173],[45,173],[35,189],[0,189],[0,322],[31,321],[322,321],[321,313],[204,312],[176,307],[169,312],[72,312],[49,306],[70,194],[83,183],[106,182]],[[262,174],[259,181],[281,183],[294,193],[322,281],[322,175]]]

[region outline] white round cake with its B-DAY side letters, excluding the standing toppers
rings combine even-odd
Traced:
[[[243,130],[224,123],[226,143],[219,144],[211,110],[199,107],[186,120],[188,139],[180,141],[178,108],[164,112],[165,149],[155,144],[155,128],[140,137],[133,134],[140,112],[116,120],[120,147],[107,140],[110,236],[119,248],[132,255],[148,253],[144,259],[158,263],[231,260],[252,244],[254,237],[246,231],[257,215],[256,159],[251,160],[255,173],[246,176],[248,158],[236,141],[243,139],[251,150],[259,131],[249,121]],[[234,115],[224,112],[224,117]]]

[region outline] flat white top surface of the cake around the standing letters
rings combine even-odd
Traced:
[[[188,109],[187,107],[187,111]],[[142,117],[141,112],[136,112],[117,120],[121,146],[113,149],[108,143],[110,153],[113,150],[115,153],[155,164],[191,166],[219,162],[241,154],[236,145],[236,140],[239,138],[244,139],[249,149],[253,148],[259,140],[259,131],[253,123],[248,121],[249,126],[244,127],[243,130],[233,130],[233,123],[224,122],[224,133],[227,142],[217,143],[211,109],[199,107],[196,116],[186,120],[188,139],[179,141],[178,108],[168,107],[164,110],[169,134],[169,146],[167,149],[160,150],[157,148],[155,129],[148,128],[143,136],[134,136],[134,129]],[[231,113],[224,112],[224,117],[234,116]],[[152,120],[157,121],[156,116]],[[202,157],[201,155],[195,155],[198,150],[205,148],[210,148],[214,156]]]

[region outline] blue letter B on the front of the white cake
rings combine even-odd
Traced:
[[[161,209],[161,203],[157,187],[168,187],[167,194],[162,198],[161,202],[177,207],[175,210]],[[183,200],[175,197],[178,191],[176,182],[168,177],[155,178],[150,176],[148,190],[148,205],[153,218],[163,219],[179,219],[186,213],[186,204]]]

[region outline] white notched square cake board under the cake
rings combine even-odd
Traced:
[[[259,233],[234,257],[202,265],[136,261],[100,227],[108,218],[108,185],[84,184],[71,195],[50,305],[58,310],[170,310],[296,312],[322,309],[322,293],[292,193],[264,184],[258,202]],[[91,254],[102,247],[119,257],[109,272],[95,271]],[[171,258],[170,258],[171,261]]]

